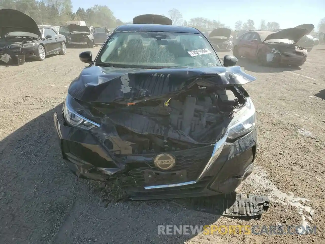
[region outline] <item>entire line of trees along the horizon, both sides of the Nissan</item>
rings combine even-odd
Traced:
[[[17,9],[31,16],[37,24],[64,25],[69,20],[83,20],[87,25],[108,28],[114,28],[124,24],[123,21],[114,16],[113,12],[107,6],[94,5],[87,9],[78,8],[76,12],[73,12],[71,0],[0,0],[1,8]],[[184,20],[182,13],[176,8],[169,10],[168,15],[175,25],[192,26],[201,31],[209,31],[223,27],[237,31],[256,30],[254,20],[247,20],[246,22],[238,20],[234,28],[231,28],[219,20],[209,20],[202,17]],[[280,25],[277,22],[261,20],[257,29],[276,31],[280,29]],[[325,32],[325,18],[319,21],[318,30]]]

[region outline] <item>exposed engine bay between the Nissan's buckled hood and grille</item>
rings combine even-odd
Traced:
[[[121,123],[122,115],[115,109],[113,110],[116,112],[102,106],[96,109],[105,114],[102,116],[112,119],[122,140],[134,143],[132,153],[141,154],[175,151],[214,143],[225,132],[233,112],[244,103],[244,95],[236,87],[218,89],[196,86],[168,100],[142,102],[119,108],[120,113],[127,110],[128,116],[142,124],[141,129],[147,126],[141,134],[135,133],[139,131],[137,123],[131,126]],[[150,123],[154,123],[155,133],[147,129],[150,128]]]

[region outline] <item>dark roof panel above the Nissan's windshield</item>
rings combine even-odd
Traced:
[[[180,32],[201,34],[193,27],[179,25],[156,25],[156,24],[127,24],[116,27],[114,31],[157,31],[157,32]]]

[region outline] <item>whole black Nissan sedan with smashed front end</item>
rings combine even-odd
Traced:
[[[117,27],[54,114],[64,160],[78,176],[118,180],[131,199],[229,193],[253,170],[256,115],[242,85],[192,27]]]

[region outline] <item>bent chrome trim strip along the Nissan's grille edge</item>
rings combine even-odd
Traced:
[[[145,186],[144,188],[146,190],[148,190],[148,189],[159,189],[159,188],[168,188],[168,187],[175,187],[175,186],[191,185],[191,184],[197,183],[199,180],[201,180],[204,173],[211,167],[213,162],[220,155],[220,153],[221,153],[221,151],[222,151],[222,149],[223,149],[223,147],[224,147],[224,145],[226,143],[227,137],[228,137],[228,132],[224,135],[223,138],[221,138],[219,141],[217,141],[214,144],[214,149],[213,149],[212,155],[210,157],[210,160],[208,161],[208,163],[204,167],[204,169],[201,172],[200,176],[195,181],[188,181],[188,182],[174,183],[174,184],[165,184],[165,185],[151,185],[151,186]]]

